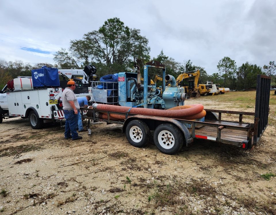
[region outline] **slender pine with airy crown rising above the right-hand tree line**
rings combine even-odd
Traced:
[[[223,77],[224,79],[224,87],[225,87],[226,79],[230,79],[231,85],[232,85],[233,80],[235,79],[235,73],[237,70],[235,60],[231,60],[229,57],[224,57],[218,62],[217,68],[221,77]]]

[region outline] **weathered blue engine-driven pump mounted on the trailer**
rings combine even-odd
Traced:
[[[137,66],[136,66],[137,67]],[[153,109],[169,109],[179,105],[184,105],[187,94],[183,87],[176,85],[176,80],[171,75],[166,75],[166,67],[160,62],[152,61],[144,65],[144,83],[141,83],[141,73],[137,67],[137,73],[118,73],[118,105],[127,107],[144,107]],[[148,70],[150,68],[162,69],[162,95],[156,84],[149,84]],[[170,82],[169,86],[165,83]],[[106,82],[105,82],[106,83]],[[102,97],[105,89],[92,89],[92,94],[96,102],[106,103],[106,98]],[[108,97],[108,95],[107,95]]]

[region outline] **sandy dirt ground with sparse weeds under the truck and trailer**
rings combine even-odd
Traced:
[[[212,96],[185,104],[194,103],[254,112]],[[251,152],[196,141],[165,155],[152,138],[131,146],[114,124],[93,123],[91,136],[72,141],[58,125],[33,130],[28,119],[4,119],[0,214],[276,214],[275,127],[269,121]]]

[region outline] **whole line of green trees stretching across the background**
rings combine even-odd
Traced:
[[[213,81],[220,86],[230,89],[256,88],[257,74],[272,77],[275,83],[276,65],[270,61],[263,67],[249,62],[237,67],[235,60],[225,56],[217,64],[217,73],[208,75],[204,67],[194,65],[191,60],[177,62],[174,58],[166,56],[161,50],[156,57],[150,57],[150,46],[146,37],[141,35],[139,29],[131,29],[124,25],[119,18],[108,19],[98,30],[93,30],[83,35],[82,39],[70,40],[68,49],[61,48],[54,54],[56,64],[37,63],[31,66],[16,60],[0,60],[0,88],[10,79],[18,76],[30,76],[32,69],[41,68],[43,65],[62,69],[84,68],[85,65],[95,65],[97,76],[114,74],[121,71],[134,71],[138,65],[143,71],[146,62],[157,60],[166,66],[166,73],[177,77],[183,72],[200,70],[200,83]],[[158,74],[158,69],[149,72],[152,79]],[[142,73],[143,74],[143,73]]]

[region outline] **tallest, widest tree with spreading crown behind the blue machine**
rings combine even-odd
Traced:
[[[140,30],[124,26],[115,17],[105,21],[99,30],[84,34],[81,40],[71,40],[70,48],[56,52],[54,60],[68,67],[97,64],[118,72],[122,68],[131,70],[136,62],[141,67],[149,59],[149,52],[148,40]]]

